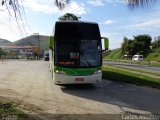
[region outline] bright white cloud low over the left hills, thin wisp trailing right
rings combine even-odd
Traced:
[[[0,20],[2,21],[1,18]],[[39,34],[46,34],[44,31],[40,31],[42,29],[32,27],[32,30],[38,31]],[[29,35],[33,35],[33,31],[28,28],[25,20],[16,21],[15,19],[10,18],[9,21],[6,17],[3,24],[0,23],[0,38],[7,39],[12,42]]]

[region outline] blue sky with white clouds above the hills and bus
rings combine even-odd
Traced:
[[[65,13],[73,13],[81,21],[98,23],[101,36],[109,38],[109,49],[120,48],[124,37],[160,35],[160,3],[131,10],[123,0],[71,0],[62,11],[55,0],[23,0],[22,4],[19,25],[14,13],[1,6],[0,38],[13,42],[34,33],[51,35],[55,22]]]

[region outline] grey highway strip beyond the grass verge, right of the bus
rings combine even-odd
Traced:
[[[140,69],[140,70],[160,73],[160,67],[153,67],[153,66],[148,66],[148,65],[128,64],[128,63],[108,62],[108,61],[103,61],[103,65],[112,65],[112,66]]]

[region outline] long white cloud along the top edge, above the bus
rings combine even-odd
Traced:
[[[73,13],[76,15],[86,14],[86,8],[84,4],[78,4],[75,1],[71,1],[64,10],[60,11],[55,5],[55,0],[26,0],[24,6],[32,10],[33,12],[42,12],[44,14],[64,14]]]

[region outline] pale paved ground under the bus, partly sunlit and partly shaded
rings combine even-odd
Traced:
[[[84,120],[84,115],[90,115],[90,120],[119,120],[110,117],[125,113],[160,114],[160,90],[109,80],[57,86],[45,61],[0,61],[1,98],[19,101],[22,108],[45,120],[52,120],[51,115],[57,120]]]

